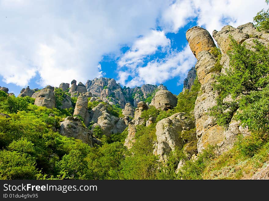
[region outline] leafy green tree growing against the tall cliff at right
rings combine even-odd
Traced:
[[[226,74],[216,76],[213,87],[219,96],[210,114],[226,128],[235,114],[234,118],[241,120],[252,132],[268,139],[269,50],[256,40],[253,41],[254,51],[232,37],[230,40],[231,50],[227,52],[230,68],[225,69]],[[226,99],[227,96],[230,99]]]

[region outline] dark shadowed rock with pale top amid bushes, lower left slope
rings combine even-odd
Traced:
[[[61,135],[82,140],[82,142],[93,147],[92,132],[88,128],[83,127],[78,117],[66,117],[60,124],[59,133]]]

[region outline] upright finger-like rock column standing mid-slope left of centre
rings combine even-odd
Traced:
[[[77,99],[74,115],[79,115],[84,119],[84,124],[86,126],[89,125],[90,114],[88,112],[88,97],[84,93],[80,94]]]

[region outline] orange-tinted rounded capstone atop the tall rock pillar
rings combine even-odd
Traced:
[[[199,52],[210,51],[213,47],[216,47],[211,35],[202,27],[195,26],[188,29],[186,39],[196,59],[198,59]]]

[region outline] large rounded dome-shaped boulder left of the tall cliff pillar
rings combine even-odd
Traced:
[[[161,89],[156,92],[150,105],[161,110],[173,109],[177,105],[177,97],[168,90]]]

